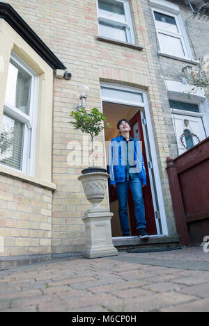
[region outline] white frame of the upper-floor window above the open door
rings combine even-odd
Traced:
[[[105,2],[105,0],[104,0]],[[129,2],[127,0],[108,0],[108,3],[114,3],[114,2],[121,2],[123,3],[123,8],[124,8],[124,12],[125,12],[125,19],[126,19],[126,23],[125,22],[119,22],[116,19],[109,19],[107,17],[102,17],[101,15],[99,15],[99,6],[98,6],[98,1],[97,1],[97,8],[98,8],[98,31],[100,32],[100,22],[104,22],[104,23],[108,23],[112,26],[121,26],[121,27],[125,27],[126,28],[126,35],[127,35],[127,43],[132,43],[135,44],[135,38],[134,38],[134,29],[133,29],[133,25],[132,25],[132,16],[130,13],[130,5]],[[100,35],[100,34],[99,34]],[[102,35],[100,35],[102,37]],[[111,35],[107,36],[108,38],[111,38]],[[119,42],[121,40],[118,40]]]

